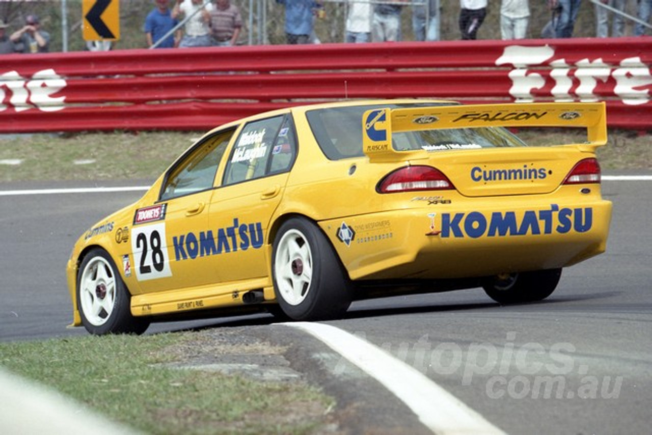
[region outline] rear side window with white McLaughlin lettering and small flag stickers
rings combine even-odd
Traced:
[[[224,185],[289,170],[296,154],[294,130],[283,115],[244,126],[226,164]]]

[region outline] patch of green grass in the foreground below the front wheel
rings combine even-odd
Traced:
[[[151,434],[306,434],[325,424],[333,400],[304,382],[166,367],[213,341],[169,333],[2,343],[0,365]]]

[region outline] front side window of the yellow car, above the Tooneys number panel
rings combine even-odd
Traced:
[[[171,169],[163,185],[161,200],[170,200],[212,188],[233,130],[218,132],[198,144]]]

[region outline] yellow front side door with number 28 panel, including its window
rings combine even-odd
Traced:
[[[168,170],[159,200],[134,215],[132,255],[141,292],[191,288],[220,281],[201,252],[209,233],[215,175],[233,129],[205,138]]]

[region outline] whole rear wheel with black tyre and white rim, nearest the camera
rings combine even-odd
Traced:
[[[292,320],[340,318],[351,305],[351,282],[331,243],[304,218],[284,222],[274,239],[276,301]]]

